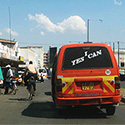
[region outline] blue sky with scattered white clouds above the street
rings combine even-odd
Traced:
[[[89,41],[125,48],[125,0],[0,0],[0,38],[20,47],[86,42],[88,19]]]

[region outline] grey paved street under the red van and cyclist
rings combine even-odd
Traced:
[[[0,124],[125,124],[125,105],[114,116],[97,107],[76,107],[58,114],[53,108],[50,80],[37,83],[37,95],[28,100],[26,87],[16,95],[0,95]]]

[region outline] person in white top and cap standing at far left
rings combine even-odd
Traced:
[[[8,94],[10,83],[11,83],[11,78],[13,77],[13,72],[12,72],[10,65],[6,66],[4,76],[6,76],[5,77],[5,92],[4,92],[4,94]]]

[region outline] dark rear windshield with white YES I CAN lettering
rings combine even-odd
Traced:
[[[64,52],[62,70],[112,67],[109,52],[105,47],[72,47]]]

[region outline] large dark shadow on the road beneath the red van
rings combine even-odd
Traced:
[[[69,107],[57,112],[52,102],[33,102],[22,111],[23,116],[39,118],[107,118],[97,107]]]

